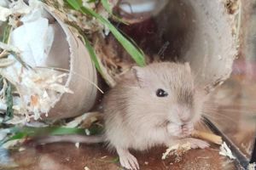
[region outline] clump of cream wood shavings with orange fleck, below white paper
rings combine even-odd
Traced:
[[[20,99],[25,105],[16,104],[14,109],[28,111],[36,120],[42,113],[48,113],[55,101],[63,93],[72,93],[65,86],[58,84],[60,72],[54,70],[24,70],[17,62],[14,67],[9,66],[0,73],[15,87],[20,89]],[[67,75],[65,75],[67,77]]]

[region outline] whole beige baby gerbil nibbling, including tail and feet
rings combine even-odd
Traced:
[[[139,169],[130,149],[186,142],[192,148],[208,146],[205,141],[189,138],[193,124],[200,119],[203,98],[188,63],[134,66],[103,99],[103,136],[57,136],[43,142],[106,142],[117,151],[121,166]]]

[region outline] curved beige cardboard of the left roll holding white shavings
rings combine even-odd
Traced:
[[[44,6],[48,19],[54,27],[55,38],[45,62],[46,66],[67,70],[69,76],[64,82],[73,94],[61,94],[54,107],[44,118],[67,118],[90,111],[97,94],[97,75],[90,54],[71,26],[64,23],[63,15]]]

